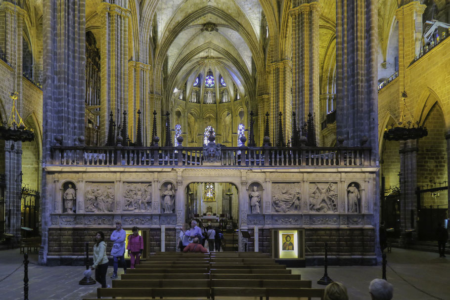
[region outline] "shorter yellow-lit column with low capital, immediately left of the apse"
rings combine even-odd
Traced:
[[[150,86],[151,66],[137,62],[128,62],[128,134],[135,141],[137,128],[137,110],[140,109],[140,119],[142,122],[142,143],[149,146],[151,141],[151,124],[153,121],[153,111],[150,110],[148,95]]]

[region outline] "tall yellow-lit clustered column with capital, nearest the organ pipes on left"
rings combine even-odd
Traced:
[[[128,111],[128,19],[131,10],[128,9],[128,0],[120,0],[101,2],[97,13],[101,22],[100,144],[104,145],[109,113],[113,112],[115,120],[122,120],[122,113]]]

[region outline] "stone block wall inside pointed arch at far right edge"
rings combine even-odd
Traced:
[[[433,105],[425,120],[428,136],[418,142],[417,185],[447,181],[447,141],[444,115],[439,105]]]

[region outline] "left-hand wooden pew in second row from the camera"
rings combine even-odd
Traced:
[[[113,288],[209,288],[209,279],[183,279],[183,280],[172,280],[172,279],[156,279],[156,280],[113,280]]]

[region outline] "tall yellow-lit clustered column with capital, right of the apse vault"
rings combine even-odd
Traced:
[[[302,3],[294,0],[289,10],[292,18],[292,106],[297,124],[302,126],[308,114],[315,115],[318,138],[319,116],[319,4],[316,0]],[[306,1],[305,1],[306,2]]]

